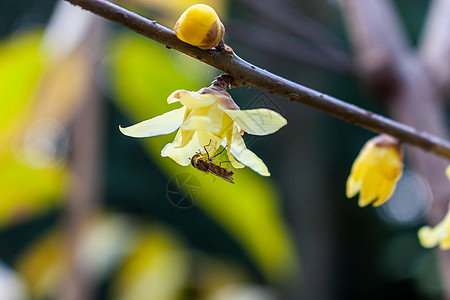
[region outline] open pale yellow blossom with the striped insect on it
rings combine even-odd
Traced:
[[[179,128],[175,140],[162,149],[161,156],[187,166],[196,152],[205,152],[203,147],[212,155],[222,145],[234,168],[245,165],[270,176],[264,162],[247,149],[241,135],[244,131],[253,135],[278,131],[287,124],[280,114],[266,108],[240,110],[225,90],[214,86],[198,92],[175,91],[167,103],[175,102],[183,107],[126,128],[119,126],[120,131],[142,138],[168,134]]]

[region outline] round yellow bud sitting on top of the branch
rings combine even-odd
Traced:
[[[206,50],[219,44],[225,34],[225,27],[212,7],[196,4],[178,19],[175,33],[183,42]]]

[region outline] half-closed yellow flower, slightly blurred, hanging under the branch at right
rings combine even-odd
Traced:
[[[359,206],[383,204],[403,171],[400,142],[382,134],[370,139],[353,163],[347,179],[347,198],[359,193]]]

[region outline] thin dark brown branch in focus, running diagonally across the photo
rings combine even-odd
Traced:
[[[377,133],[387,133],[426,151],[450,158],[450,143],[439,137],[314,91],[239,58],[234,53],[201,50],[180,41],[175,33],[105,0],[66,0],[94,14],[121,24],[139,34],[222,70],[234,78],[234,86],[252,86],[275,93]]]

